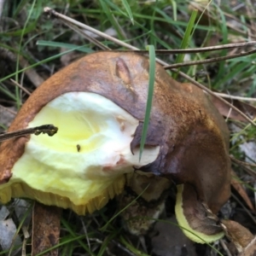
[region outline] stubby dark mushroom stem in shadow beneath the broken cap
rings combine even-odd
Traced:
[[[171,185],[170,180],[152,173],[138,171],[127,175],[125,190],[117,196],[125,230],[140,238],[147,235],[155,219],[165,212]]]

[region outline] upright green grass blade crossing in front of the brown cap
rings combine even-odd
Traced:
[[[148,124],[150,119],[150,112],[153,102],[154,96],[154,75],[155,75],[155,51],[153,45],[148,45],[148,52],[149,52],[149,81],[148,81],[148,99],[147,99],[147,106],[146,106],[146,113],[143,122],[143,134],[140,144],[140,154],[139,160],[142,159],[143,155],[143,148],[146,143],[147,131],[148,131]]]

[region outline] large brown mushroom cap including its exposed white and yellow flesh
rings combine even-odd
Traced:
[[[59,130],[54,137],[1,144],[0,201],[27,197],[79,214],[94,212],[122,192],[125,176],[140,170],[177,184],[177,221],[192,240],[223,236],[215,214],[230,196],[224,119],[203,90],[178,83],[157,64],[139,161],[148,67],[143,55],[98,52],[39,86],[9,131],[48,123]]]

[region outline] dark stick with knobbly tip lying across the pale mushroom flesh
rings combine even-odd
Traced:
[[[0,142],[9,140],[11,138],[22,137],[30,134],[39,135],[41,133],[47,133],[49,136],[54,136],[57,131],[58,128],[54,125],[40,125],[32,128],[0,134]]]

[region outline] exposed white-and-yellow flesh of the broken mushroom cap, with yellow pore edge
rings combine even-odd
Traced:
[[[53,137],[31,136],[9,183],[0,187],[2,201],[28,197],[79,214],[93,212],[122,192],[132,166],[147,165],[159,154],[159,147],[145,149],[139,162],[138,151],[130,149],[138,120],[94,93],[55,98],[29,127],[44,124],[59,130]]]

